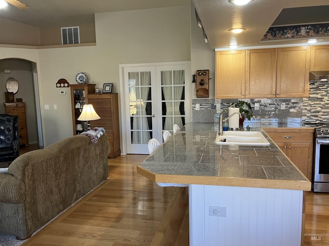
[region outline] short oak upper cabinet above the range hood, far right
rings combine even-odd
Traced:
[[[329,45],[312,46],[310,50],[310,71],[329,70]]]

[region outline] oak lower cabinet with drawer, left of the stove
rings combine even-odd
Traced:
[[[313,128],[264,128],[296,167],[312,181]]]

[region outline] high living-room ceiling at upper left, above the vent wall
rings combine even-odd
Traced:
[[[94,13],[151,9],[190,5],[190,0],[20,0],[21,10],[8,5],[0,9],[0,18],[35,27],[61,26],[66,23],[90,23]]]

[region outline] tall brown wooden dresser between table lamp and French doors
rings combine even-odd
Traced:
[[[91,127],[103,127],[111,145],[108,157],[116,158],[121,154],[119,132],[119,107],[117,93],[88,94],[88,104],[92,104],[98,120],[89,121]]]

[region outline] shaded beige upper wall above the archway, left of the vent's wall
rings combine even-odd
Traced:
[[[39,28],[0,18],[0,44],[40,45]]]

